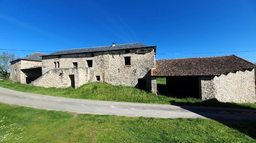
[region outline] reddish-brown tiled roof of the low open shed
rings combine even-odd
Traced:
[[[182,58],[156,60],[152,76],[210,76],[237,70],[254,68],[256,65],[237,55],[206,58]]]

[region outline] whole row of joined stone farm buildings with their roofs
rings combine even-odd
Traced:
[[[140,43],[33,53],[11,62],[10,79],[56,88],[103,82],[177,97],[256,102],[254,63],[236,55],[166,60],[155,55],[156,46]],[[156,77],[165,77],[166,85],[158,86]]]

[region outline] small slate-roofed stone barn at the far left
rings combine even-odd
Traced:
[[[11,61],[10,80],[31,83],[42,76],[42,55],[46,54],[35,52],[25,58]]]

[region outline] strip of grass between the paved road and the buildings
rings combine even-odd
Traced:
[[[0,80],[0,86],[16,91],[78,99],[256,109],[256,104],[222,103],[196,98],[177,99],[163,95],[157,96],[131,86],[111,85],[100,82],[87,83],[77,89],[71,87],[43,88],[10,80]]]

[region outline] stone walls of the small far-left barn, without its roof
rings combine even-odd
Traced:
[[[42,66],[42,62],[39,61],[27,61],[27,60],[15,60],[11,62],[11,73],[10,73],[10,80],[18,81],[20,83],[26,83],[26,77],[28,76],[37,76],[39,77],[38,73],[30,72],[25,69],[30,68],[38,68]]]

